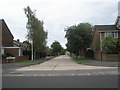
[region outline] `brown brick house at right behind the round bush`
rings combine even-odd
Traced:
[[[94,58],[97,60],[118,60],[119,55],[107,55],[102,53],[101,42],[106,36],[112,36],[120,40],[120,16],[117,17],[114,25],[95,25],[94,35],[92,42],[92,50],[94,52]]]

